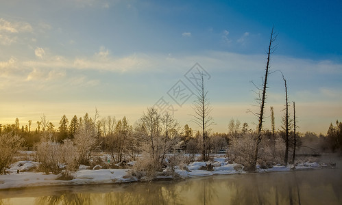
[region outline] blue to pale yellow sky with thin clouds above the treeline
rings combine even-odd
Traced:
[[[136,124],[156,106],[189,124],[196,85],[205,87],[215,122],[254,128],[256,87],[271,54],[265,105],[276,128],[284,115],[284,81],[298,130],[323,133],[342,120],[342,1],[4,1],[0,0],[0,124],[58,127],[85,113]],[[33,125],[34,126],[34,125]]]

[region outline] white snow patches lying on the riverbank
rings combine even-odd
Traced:
[[[212,171],[202,170],[206,165],[212,165]],[[10,165],[8,171],[10,174],[0,175],[0,189],[23,188],[23,187],[38,187],[38,186],[53,186],[64,184],[106,184],[106,183],[121,183],[137,181],[137,178],[127,177],[130,169],[86,169],[86,166],[80,166],[80,169],[75,172],[73,180],[57,180],[56,174],[45,174],[42,172],[32,172],[32,168],[38,163],[33,161],[19,161]],[[319,163],[299,163],[295,169],[317,169],[326,167],[325,164]],[[290,171],[293,165],[282,166],[275,165],[270,169],[260,169],[257,172],[280,172]],[[19,170],[19,173],[17,173]],[[198,176],[212,176],[217,174],[245,174],[243,166],[233,163],[229,164],[227,158],[218,156],[214,158],[214,163],[210,162],[193,162],[186,165],[186,168],[180,169],[176,167],[175,172],[182,178],[191,178]],[[162,178],[162,177],[158,177]],[[170,178],[164,177],[164,178]]]

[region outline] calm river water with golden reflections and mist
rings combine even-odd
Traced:
[[[0,204],[342,204],[341,169],[0,191]]]

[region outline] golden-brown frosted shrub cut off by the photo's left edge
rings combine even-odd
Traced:
[[[0,135],[0,174],[6,174],[6,168],[10,163],[14,154],[21,148],[24,139],[12,133]]]

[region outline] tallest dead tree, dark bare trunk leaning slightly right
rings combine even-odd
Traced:
[[[259,144],[261,141],[261,131],[262,131],[262,122],[264,119],[264,108],[265,108],[265,98],[266,98],[266,89],[267,89],[267,77],[269,75],[269,61],[270,61],[270,55],[271,53],[274,52],[275,47],[272,47],[272,42],[274,42],[276,40],[278,35],[275,36],[275,33],[273,32],[273,27],[272,27],[272,31],[271,31],[271,37],[269,38],[269,49],[267,51],[267,64],[266,64],[266,70],[265,70],[265,79],[262,82],[262,95],[260,96],[260,92],[259,92],[259,102],[260,102],[260,113],[258,114],[259,117],[259,122],[258,122],[258,136],[256,138],[256,146],[254,148],[254,160],[252,162],[252,165],[250,165],[251,167],[249,167],[248,169],[254,171],[256,169],[256,161],[258,160],[258,150],[259,150]],[[260,90],[261,91],[261,90]]]

